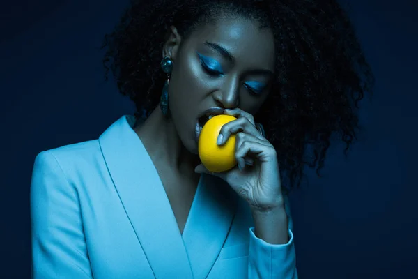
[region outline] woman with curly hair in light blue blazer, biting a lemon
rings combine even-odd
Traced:
[[[132,1],[105,45],[138,113],[37,156],[33,277],[297,278],[285,189],[334,133],[348,149],[371,85],[339,5]],[[219,134],[238,166],[218,174],[197,155],[216,114],[238,118]]]

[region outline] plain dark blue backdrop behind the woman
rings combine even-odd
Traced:
[[[362,3],[363,2],[363,3]],[[291,196],[300,278],[418,278],[417,4],[350,1],[376,75],[346,159]],[[0,4],[1,278],[29,278],[29,185],[37,153],[97,138],[132,113],[103,81],[102,36],[127,0]],[[415,186],[415,187],[414,187]]]

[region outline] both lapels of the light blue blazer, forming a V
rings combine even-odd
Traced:
[[[237,197],[203,174],[180,234],[157,169],[123,116],[99,137],[109,174],[156,278],[206,278],[235,215]]]

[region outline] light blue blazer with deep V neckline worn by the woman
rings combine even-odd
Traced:
[[[31,182],[36,279],[297,278],[290,241],[254,234],[247,204],[201,176],[183,235],[160,177],[123,116],[98,140],[42,151]]]

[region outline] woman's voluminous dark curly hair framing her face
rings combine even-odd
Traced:
[[[187,38],[219,15],[246,17],[272,29],[277,74],[254,117],[277,150],[287,190],[300,186],[304,165],[316,167],[320,176],[334,135],[345,142],[347,155],[359,129],[359,100],[372,93],[374,81],[336,0],[132,0],[104,37],[106,78],[110,69],[119,91],[134,101],[137,116],[148,117],[160,101],[160,61],[169,27]]]

